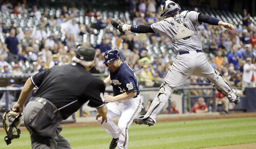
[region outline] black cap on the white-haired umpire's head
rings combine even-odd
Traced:
[[[78,48],[77,53],[75,54],[75,57],[84,61],[92,61],[94,60],[96,51],[94,48],[90,46],[81,46]]]

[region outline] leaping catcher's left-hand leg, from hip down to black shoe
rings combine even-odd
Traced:
[[[157,115],[164,109],[172,92],[194,71],[194,60],[194,57],[191,57],[190,54],[177,56],[148,112],[144,116],[135,118],[135,123],[152,126],[156,122]]]

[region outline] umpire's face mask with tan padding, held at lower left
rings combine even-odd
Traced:
[[[4,140],[6,144],[9,145],[12,143],[12,139],[19,138],[19,135],[21,134],[19,126],[21,126],[22,117],[21,114],[17,115],[16,112],[6,109],[0,110],[0,115],[3,121],[4,130],[7,134],[7,136],[4,137]],[[14,135],[16,131],[17,135]]]

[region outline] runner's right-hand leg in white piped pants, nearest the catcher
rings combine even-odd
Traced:
[[[135,101],[136,99],[129,99],[131,101],[124,102],[122,115],[118,121],[119,140],[117,144],[118,149],[127,149],[128,146],[128,129],[133,119],[138,116],[142,109],[141,102]]]

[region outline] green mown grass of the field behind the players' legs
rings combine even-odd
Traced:
[[[213,146],[256,143],[256,118],[230,118],[156,123],[154,126],[131,125],[130,149],[197,149]],[[10,145],[0,133],[0,148],[30,149],[28,131]],[[101,127],[64,128],[61,132],[72,149],[106,149],[112,137]]]

